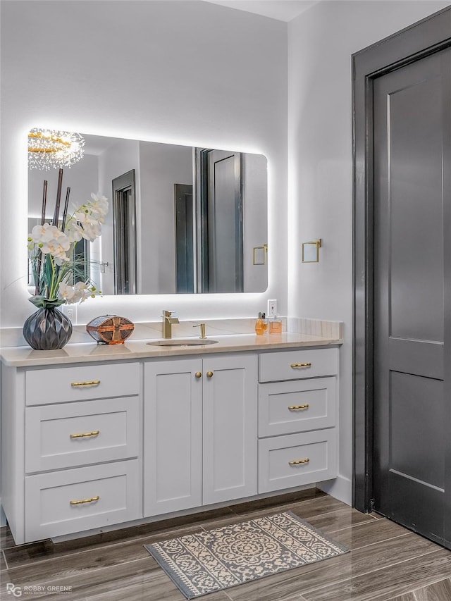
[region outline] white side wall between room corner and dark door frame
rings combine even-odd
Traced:
[[[340,473],[352,476],[351,55],[449,1],[323,1],[288,26],[288,314],[345,322],[340,369]],[[300,244],[323,239],[319,264]]]

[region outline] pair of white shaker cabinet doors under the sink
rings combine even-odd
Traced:
[[[144,516],[257,494],[257,355],[144,365]]]

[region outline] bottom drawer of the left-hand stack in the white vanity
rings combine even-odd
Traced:
[[[27,476],[25,539],[51,538],[139,519],[141,498],[137,459]]]

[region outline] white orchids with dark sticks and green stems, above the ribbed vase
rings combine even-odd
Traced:
[[[58,186],[58,192],[61,195],[61,186]],[[36,286],[35,296],[30,302],[38,307],[83,302],[101,294],[101,290],[97,290],[90,280],[77,281],[85,277],[85,265],[84,261],[75,259],[73,250],[75,244],[83,238],[94,242],[101,235],[101,224],[109,209],[108,200],[93,193],[90,201],[68,216],[69,192],[70,188],[66,194],[61,224],[58,221],[58,194],[53,223],[46,223],[47,182],[44,182],[41,224],[35,225],[28,237],[28,251]],[[76,283],[72,284],[73,282]]]

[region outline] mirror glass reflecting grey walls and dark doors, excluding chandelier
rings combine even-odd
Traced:
[[[64,169],[63,188],[74,205],[91,192],[109,199],[87,264],[104,294],[266,290],[263,155],[82,136],[85,154]],[[52,197],[58,170],[29,170],[29,218],[40,215],[44,179]]]

